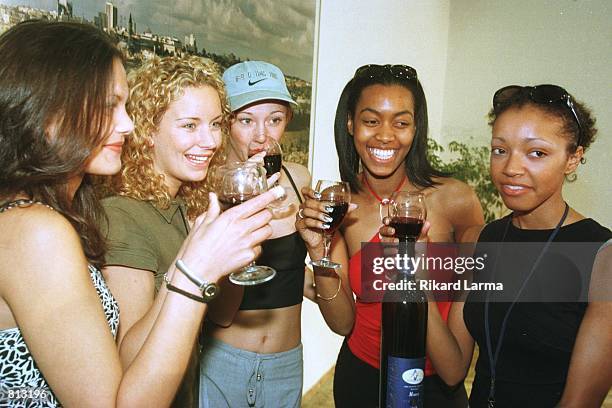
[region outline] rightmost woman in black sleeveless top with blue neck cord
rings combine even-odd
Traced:
[[[510,86],[495,93],[491,178],[513,213],[487,225],[480,243],[602,243],[612,237],[570,208],[562,195],[565,178],[593,141],[594,122],[586,107],[557,86]],[[494,295],[472,292],[466,303],[453,305],[448,327],[430,307],[428,336],[438,341],[427,351],[439,375],[449,384],[463,380],[476,341],[480,355],[471,407],[600,406],[612,378],[612,302],[592,296],[594,289],[602,290],[603,275],[610,274],[603,257],[610,259],[611,249],[602,247],[597,254],[595,249],[588,259],[595,264],[589,303],[521,303],[520,296],[518,302],[494,303]],[[529,277],[527,269],[535,273]],[[525,273],[529,284],[542,277],[560,279],[557,268],[533,263],[515,271]]]

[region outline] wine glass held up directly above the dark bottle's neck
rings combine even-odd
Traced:
[[[390,225],[400,242],[416,242],[427,218],[423,193],[396,191],[389,201]]]

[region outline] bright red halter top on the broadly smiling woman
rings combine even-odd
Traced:
[[[380,242],[378,233],[369,242]],[[428,248],[429,251],[435,248]],[[369,263],[371,264],[371,263]],[[351,290],[356,296],[355,300],[355,324],[351,334],[348,336],[348,346],[355,356],[369,365],[380,368],[380,322],[382,318],[382,306],[380,302],[363,302],[361,296],[361,250],[357,251],[349,260],[349,281]],[[448,312],[452,302],[438,302],[438,310],[444,321],[448,318]],[[425,375],[435,374],[435,370],[429,361],[425,360]]]

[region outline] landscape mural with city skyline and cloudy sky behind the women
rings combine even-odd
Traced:
[[[34,18],[93,24],[117,39],[128,69],[154,55],[197,54],[223,69],[245,60],[271,62],[299,103],[283,158],[307,165],[315,1],[0,0],[0,33]]]

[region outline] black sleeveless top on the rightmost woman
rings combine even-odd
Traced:
[[[509,216],[508,216],[509,217]],[[500,242],[508,217],[488,224],[479,242]],[[546,242],[552,230],[522,230],[510,223],[505,242]],[[612,238],[606,227],[587,218],[561,227],[555,242],[605,242]],[[586,257],[586,254],[585,254]],[[595,253],[589,254],[593,263]],[[555,274],[560,270],[552,271]],[[480,347],[470,407],[486,407],[490,384],[490,363],[486,352],[484,303],[470,293],[463,308],[463,320]],[[493,347],[508,303],[490,303]],[[569,363],[587,304],[581,302],[519,302],[508,318],[503,345],[496,365],[496,407],[556,406],[567,378]]]

